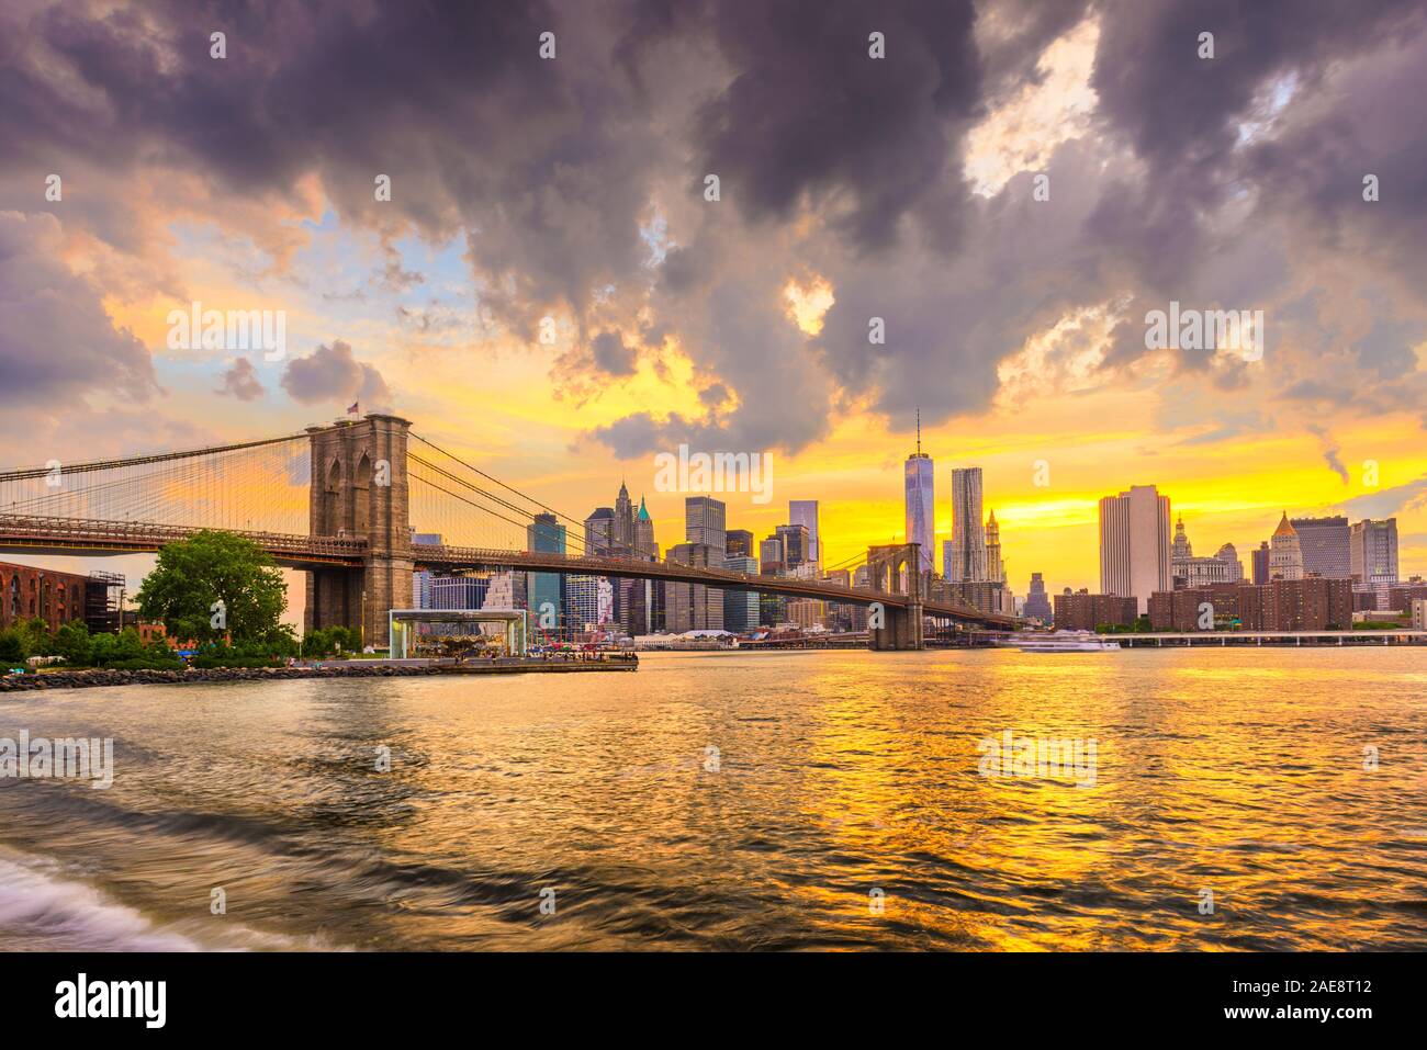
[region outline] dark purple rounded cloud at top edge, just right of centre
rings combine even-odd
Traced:
[[[831,204],[859,245],[890,244],[977,100],[970,1],[715,4],[712,21],[733,77],[696,138],[725,198],[752,220]]]

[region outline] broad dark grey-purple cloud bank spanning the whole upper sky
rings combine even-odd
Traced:
[[[0,208],[37,207],[36,187],[63,164],[78,173],[67,185],[84,187],[56,208],[66,230],[124,250],[154,234],[101,173],[180,173],[213,201],[274,207],[314,175],[344,223],[388,248],[412,231],[462,235],[482,315],[518,335],[568,312],[577,345],[557,379],[574,389],[621,381],[636,352],[668,375],[659,348],[676,342],[711,391],[705,414],[655,411],[598,432],[622,452],[685,438],[796,449],[848,402],[898,421],[916,405],[929,422],[976,412],[999,365],[1077,310],[1127,318],[1104,372],[1130,375],[1146,357],[1144,311],[1172,298],[1270,307],[1276,398],[1336,388],[1344,407],[1381,411],[1423,392],[1411,360],[1427,310],[1411,277],[1427,253],[1427,126],[1411,108],[1427,94],[1420,3],[6,10],[0,140],[14,177],[0,173]],[[1087,11],[1099,110],[1090,134],[1046,160],[1052,201],[1032,203],[1026,171],[973,195],[968,128],[1037,83],[1045,49]],[[208,57],[214,29],[228,36],[223,61]],[[554,61],[538,56],[545,30]],[[868,57],[873,30],[885,60]],[[1203,30],[1216,34],[1210,61],[1196,54]],[[1377,204],[1361,200],[1367,171],[1381,175]],[[719,203],[702,200],[706,173],[721,177]],[[390,203],[374,200],[377,174],[392,180]],[[1324,260],[1339,268],[1324,272],[1384,290],[1377,324],[1353,317],[1353,292],[1320,287],[1336,277],[1304,277]],[[782,302],[808,274],[835,292],[815,338]],[[417,280],[391,251],[378,284]],[[873,315],[885,347],[868,342]],[[648,350],[614,332],[639,332]],[[1224,397],[1250,385],[1244,367],[1206,354],[1174,368]],[[390,398],[340,342],[290,362],[281,382],[310,402]],[[714,401],[718,384],[731,397]]]

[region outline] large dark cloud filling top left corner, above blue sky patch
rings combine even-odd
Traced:
[[[582,311],[646,254],[656,150],[629,118],[626,78],[605,66],[605,14],[495,1],[53,7],[24,24],[31,47],[10,46],[0,127],[36,178],[81,153],[278,201],[315,173],[347,220],[467,233],[487,305],[532,325],[554,302]],[[224,60],[210,57],[215,27]],[[554,61],[538,54],[547,30]],[[378,174],[390,203],[374,200]]]

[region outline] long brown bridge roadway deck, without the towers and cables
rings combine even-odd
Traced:
[[[150,522],[90,521],[80,518],[41,518],[0,514],[0,552],[114,555],[151,554],[164,544],[184,539],[197,526],[156,525]],[[278,565],[311,569],[323,565],[360,568],[367,555],[367,541],[354,536],[311,536],[280,532],[238,532],[257,542]],[[412,544],[411,556],[418,569],[459,572],[474,569],[518,569],[524,572],[564,572],[588,576],[662,579],[674,583],[704,583],[721,589],[761,591],[789,598],[872,605],[892,609],[910,603],[906,595],[869,588],[845,588],[838,583],[788,576],[755,576],[732,569],[705,569],[679,562],[644,562],[626,558],[571,556],[532,551],[505,551],[475,546]],[[985,613],[969,605],[922,602],[922,612],[936,619],[1015,629],[1015,619]]]

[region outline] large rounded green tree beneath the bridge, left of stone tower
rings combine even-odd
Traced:
[[[215,529],[167,544],[138,588],[140,613],[183,641],[214,642],[225,631],[234,643],[277,641],[285,603],[283,574],[267,552]]]

